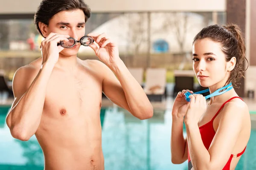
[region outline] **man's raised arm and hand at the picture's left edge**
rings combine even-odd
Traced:
[[[64,49],[56,44],[68,41],[69,35],[50,33],[41,42],[42,64],[36,69],[32,65],[18,69],[13,79],[15,101],[6,123],[14,138],[29,140],[35,134],[41,121],[45,94],[52,70],[58,62],[59,53]],[[39,73],[38,73],[39,72]]]

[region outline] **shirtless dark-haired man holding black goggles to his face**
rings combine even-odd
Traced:
[[[104,170],[102,91],[139,119],[153,116],[146,94],[107,35],[89,34],[100,47],[93,43],[90,48],[105,64],[79,59],[80,43],[57,46],[68,37],[80,40],[89,17],[83,0],[43,0],[35,14],[38,31],[46,37],[42,57],[19,68],[13,79],[15,100],[6,123],[16,139],[27,141],[35,134],[45,170]]]

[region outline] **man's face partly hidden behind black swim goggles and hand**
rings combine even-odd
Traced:
[[[73,37],[75,40],[80,40],[85,34],[85,16],[84,12],[80,9],[74,11],[61,11],[55,14],[49,25],[46,28],[47,37],[51,32],[57,34],[66,34]],[[73,48],[64,48],[60,54],[64,56],[74,56],[78,53],[80,43],[77,43]]]

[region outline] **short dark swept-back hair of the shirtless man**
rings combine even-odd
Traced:
[[[73,11],[81,9],[84,12],[85,22],[90,18],[90,8],[84,0],[42,0],[35,12],[35,25],[38,32],[43,36],[39,22],[49,25],[49,20],[61,11]],[[44,37],[44,36],[43,36]]]

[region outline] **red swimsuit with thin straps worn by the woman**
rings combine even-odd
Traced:
[[[241,99],[240,97],[232,97],[227,102],[230,102],[230,100],[235,99],[235,98]],[[210,122],[208,122],[207,124],[202,125],[201,127],[199,127],[202,141],[203,141],[204,146],[206,147],[207,150],[209,149],[210,144],[212,143],[212,139],[215,136],[215,131],[213,129],[213,120],[215,119],[215,117],[218,115],[218,113],[221,111],[221,109],[224,107],[224,105],[227,102],[224,102],[224,104],[221,106],[221,108],[218,110],[218,112],[215,114],[215,116],[212,118],[212,120]],[[231,163],[232,158],[237,158],[237,157],[241,156],[244,153],[245,148],[241,153],[239,153],[237,155],[231,154],[230,159],[227,161],[227,164],[225,165],[225,167],[222,170],[230,170],[230,163]],[[191,170],[192,169],[192,162],[191,162],[191,159],[190,159],[190,156],[189,156],[189,150],[188,150],[188,161],[189,161],[189,170]]]

